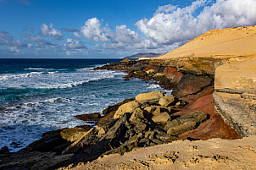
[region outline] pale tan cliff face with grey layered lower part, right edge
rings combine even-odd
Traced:
[[[216,69],[214,107],[244,137],[256,134],[256,59]]]

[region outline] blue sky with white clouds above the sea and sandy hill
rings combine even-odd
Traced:
[[[170,52],[207,30],[256,25],[256,0],[0,0],[0,58]]]

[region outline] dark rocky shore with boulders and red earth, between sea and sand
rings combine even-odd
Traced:
[[[125,59],[97,68],[128,71],[125,80],[155,80],[164,89],[173,89],[173,96],[153,91],[109,106],[103,110],[103,118],[100,113],[78,115],[76,118],[97,123],[97,126],[42,134],[41,140],[25,149],[15,153],[3,151],[0,168],[54,169],[174,140],[240,138],[214,112],[212,69],[220,61],[206,58],[185,59],[183,63],[186,62],[191,65],[181,67],[178,64],[181,62],[176,61]]]

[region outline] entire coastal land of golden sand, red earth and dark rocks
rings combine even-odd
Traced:
[[[125,80],[158,83],[172,96],[153,91],[78,115],[97,126],[58,129],[17,153],[0,152],[0,168],[254,168],[256,52],[248,43],[231,47],[256,44],[255,30],[210,30],[159,58],[96,68],[123,70]]]

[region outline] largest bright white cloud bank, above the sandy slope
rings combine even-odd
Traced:
[[[197,15],[198,8],[203,11]],[[158,44],[172,44],[210,29],[255,25],[255,8],[256,0],[217,0],[210,6],[206,0],[197,0],[186,8],[159,7],[151,19],[139,20],[136,26]]]

